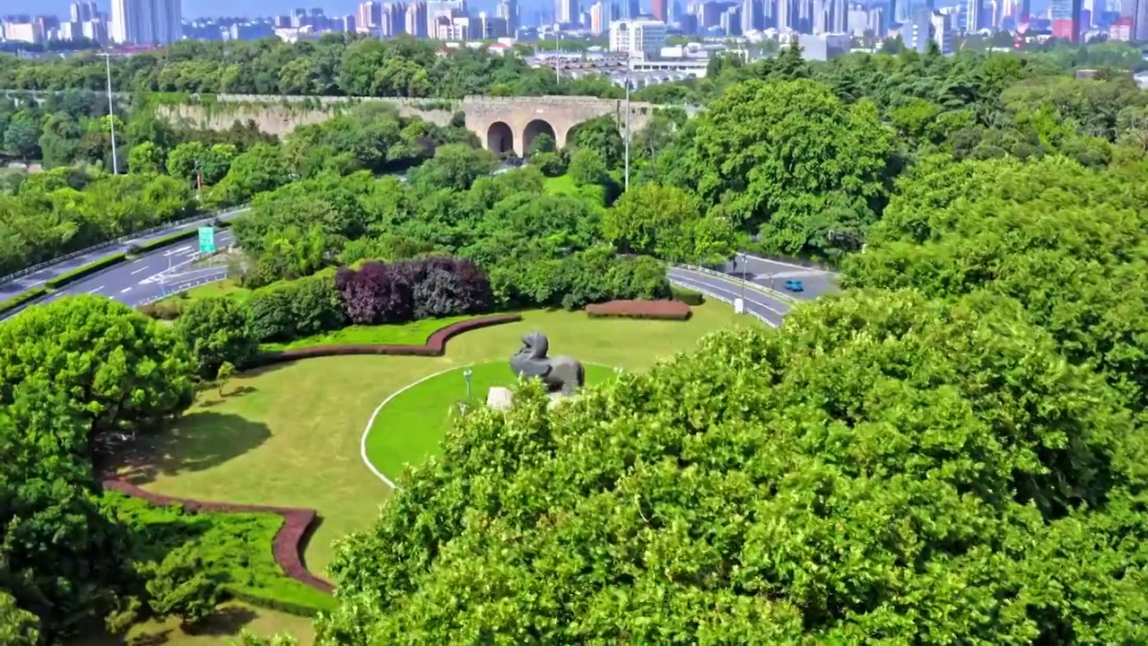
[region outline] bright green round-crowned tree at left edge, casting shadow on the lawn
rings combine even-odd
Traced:
[[[0,325],[0,407],[29,380],[83,410],[85,454],[100,434],[148,430],[192,400],[194,362],[173,330],[102,297],[69,297]]]

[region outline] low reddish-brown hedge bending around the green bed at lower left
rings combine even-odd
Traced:
[[[172,498],[170,495],[163,495],[142,490],[116,476],[106,478],[103,480],[103,487],[106,490],[118,491],[125,495],[144,499],[156,506],[179,505],[189,514],[194,514],[196,512],[223,514],[278,514],[279,516],[282,516],[284,525],[279,529],[279,532],[276,533],[274,544],[272,546],[276,562],[279,563],[279,567],[281,567],[285,572],[287,572],[287,576],[300,583],[321,592],[329,593],[334,590],[334,586],[312,575],[303,566],[303,541],[307,539],[308,532],[317,517],[315,509],[266,507],[262,505],[233,505],[230,502],[209,502],[204,500]]]

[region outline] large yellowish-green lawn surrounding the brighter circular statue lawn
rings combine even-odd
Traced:
[[[169,495],[317,509],[323,523],[304,556],[323,576],[332,541],[367,528],[390,495],[363,464],[359,441],[374,409],[403,386],[449,368],[505,366],[532,330],[550,337],[552,355],[642,370],[713,330],[760,325],[718,302],[693,308],[688,322],[522,315],[451,339],[443,356],[332,356],[239,375],[225,397],[203,391],[170,430],[141,446],[149,460],[133,464],[133,479]]]

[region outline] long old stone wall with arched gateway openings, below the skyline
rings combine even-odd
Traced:
[[[15,100],[42,101],[47,94],[22,90],[0,91]],[[106,92],[92,92],[106,95]],[[114,93],[117,100],[129,101],[131,95]],[[193,95],[194,97],[194,95]],[[496,153],[514,152],[526,156],[535,137],[549,134],[560,148],[573,126],[599,116],[611,116],[619,128],[626,125],[626,101],[595,97],[487,97],[470,95],[463,100],[406,99],[389,97],[304,97],[278,94],[212,94],[210,105],[194,99],[187,103],[163,105],[158,114],[173,124],[201,130],[226,130],[236,121],[254,121],[269,134],[284,136],[300,125],[319,123],[344,113],[360,102],[383,102],[394,106],[401,116],[417,116],[445,125],[455,113],[463,113],[466,128]],[[630,128],[645,126],[653,109],[652,103],[631,101]]]

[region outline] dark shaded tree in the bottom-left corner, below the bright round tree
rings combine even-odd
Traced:
[[[77,353],[77,366],[84,359]],[[29,628],[6,594],[36,616],[32,625],[52,643],[76,617],[99,612],[101,591],[124,577],[122,532],[93,503],[91,415],[51,377],[6,387],[0,406],[0,643],[6,645],[21,644]]]

